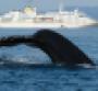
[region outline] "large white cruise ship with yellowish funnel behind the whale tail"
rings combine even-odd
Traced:
[[[0,27],[83,27],[95,24],[96,20],[77,9],[37,13],[36,8],[25,7],[0,15]]]

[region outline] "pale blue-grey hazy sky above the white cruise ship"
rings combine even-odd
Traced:
[[[29,0],[0,0],[0,12],[23,9]],[[30,4],[38,10],[53,10],[59,8],[60,2],[63,7],[98,7],[98,0],[30,0]]]

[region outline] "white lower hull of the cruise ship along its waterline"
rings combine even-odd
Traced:
[[[84,27],[89,25],[96,25],[96,22],[91,23],[33,23],[33,22],[8,22],[8,23],[0,23],[0,27]]]

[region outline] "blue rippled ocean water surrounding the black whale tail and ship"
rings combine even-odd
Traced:
[[[98,19],[98,8],[83,9]],[[29,35],[40,29],[0,29],[0,37]],[[98,65],[98,26],[52,29],[77,45]],[[1,47],[0,58],[11,62],[51,64],[51,59],[36,47],[19,45]],[[0,66],[0,91],[98,91],[98,67],[65,68],[48,66]]]

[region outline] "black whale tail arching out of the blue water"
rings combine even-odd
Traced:
[[[66,37],[51,30],[39,30],[33,35],[16,35],[0,38],[0,47],[11,47],[20,44],[40,48],[50,56],[51,61],[54,65],[95,65],[91,59],[76,45]]]

